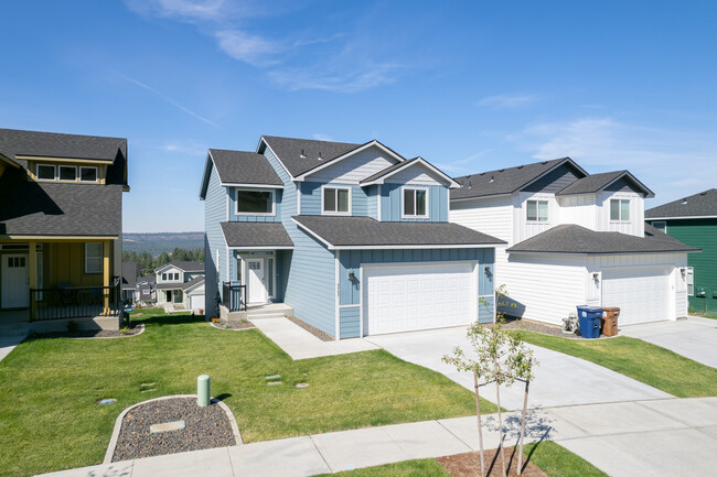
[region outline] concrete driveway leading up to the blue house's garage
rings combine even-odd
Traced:
[[[473,390],[472,375],[458,372],[441,361],[443,355],[452,353],[456,346],[470,349],[465,339],[465,327],[431,329],[427,332],[399,333],[370,336],[365,339],[388,353],[416,365],[441,372]],[[638,401],[668,398],[671,394],[618,372],[561,353],[531,346],[541,362],[536,378],[531,383],[529,408],[554,408],[574,404]],[[507,410],[523,408],[524,387],[515,383],[501,388],[501,405]],[[481,397],[495,402],[495,388],[481,388]]]

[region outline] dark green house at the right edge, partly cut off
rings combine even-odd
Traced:
[[[696,313],[717,313],[717,188],[645,210],[653,227],[702,253],[687,259],[687,294]]]

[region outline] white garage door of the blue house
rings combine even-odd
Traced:
[[[364,335],[469,324],[478,319],[473,264],[364,268]]]

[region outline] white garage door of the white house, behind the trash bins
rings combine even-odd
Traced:
[[[602,272],[602,306],[619,306],[619,325],[671,319],[670,270],[644,268]]]

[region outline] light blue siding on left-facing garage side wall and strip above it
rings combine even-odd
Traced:
[[[333,252],[328,250],[291,220],[297,214],[297,186],[277,158],[266,148],[264,155],[283,182],[281,221],[293,241],[290,263],[281,270],[286,280],[283,301],[293,307],[293,314],[303,322],[331,336],[335,329],[335,262]],[[303,207],[303,204],[302,204]],[[302,214],[306,212],[301,210]]]

